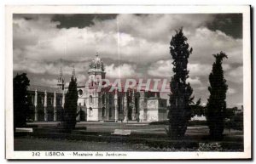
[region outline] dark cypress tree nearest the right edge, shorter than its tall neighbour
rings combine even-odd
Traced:
[[[212,139],[221,139],[224,131],[224,118],[226,114],[226,92],[228,85],[224,79],[222,61],[228,58],[226,54],[220,52],[213,54],[215,62],[212,65],[212,72],[209,76],[210,97],[207,102],[207,124],[210,128]]]

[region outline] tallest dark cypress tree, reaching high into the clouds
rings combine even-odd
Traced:
[[[191,116],[190,104],[193,98],[191,95],[193,89],[189,82],[186,82],[189,77],[187,69],[189,54],[192,54],[192,48],[189,48],[187,37],[183,35],[183,29],[176,32],[170,42],[170,53],[172,55],[172,81],[170,83],[170,110],[168,113],[169,119],[169,136],[172,139],[181,139],[187,130],[187,124]]]

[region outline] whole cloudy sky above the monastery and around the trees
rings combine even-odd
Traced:
[[[227,102],[241,105],[241,14],[14,14],[14,75],[26,72],[31,84],[55,87],[60,68],[69,79],[75,65],[83,85],[98,52],[107,78],[170,80],[170,41],[182,26],[193,48],[189,82],[195,100],[207,102],[212,54],[224,51]]]

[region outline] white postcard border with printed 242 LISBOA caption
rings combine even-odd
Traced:
[[[14,151],[13,133],[13,31],[12,14],[243,14],[243,105],[244,105],[244,152],[130,152],[127,156],[78,157],[32,156],[32,151]],[[6,6],[5,25],[5,136],[7,159],[241,159],[251,157],[251,37],[250,6],[169,6],[169,5],[23,5]],[[45,151],[40,151],[45,154]],[[49,152],[49,151],[48,151]],[[65,154],[73,151],[62,151]],[[84,151],[85,152],[85,151]],[[95,151],[86,151],[96,153]],[[107,153],[99,151],[103,154]],[[108,151],[109,153],[113,153]]]

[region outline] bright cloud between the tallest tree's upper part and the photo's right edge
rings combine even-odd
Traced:
[[[189,33],[184,31],[184,33]],[[210,31],[206,27],[200,27],[187,36],[190,47],[194,49],[190,61],[201,61],[204,64],[212,64],[212,54],[223,51],[228,55],[226,62],[240,63],[242,61],[242,39],[234,39],[222,31]]]

